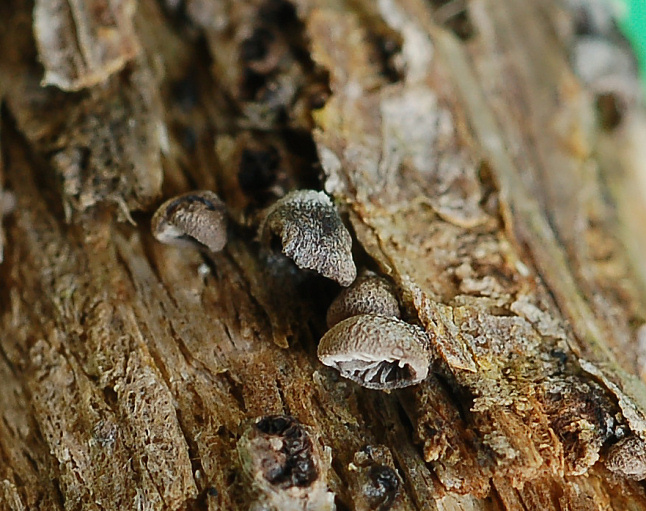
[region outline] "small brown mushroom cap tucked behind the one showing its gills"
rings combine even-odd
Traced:
[[[364,271],[352,285],[339,293],[327,310],[327,326],[359,314],[399,318],[399,302],[391,283],[371,271]]]

